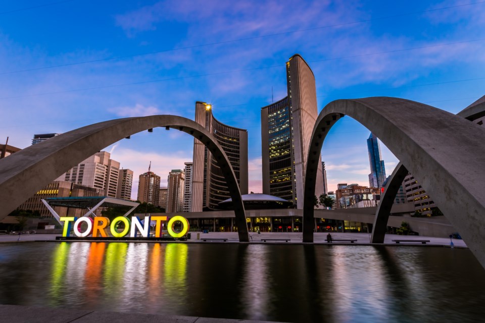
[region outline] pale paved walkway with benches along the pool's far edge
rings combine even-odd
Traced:
[[[349,242],[332,242],[332,244],[359,244],[359,245],[370,245],[370,234],[368,233],[342,233],[342,232],[332,232],[331,233],[333,239],[355,239],[357,240],[355,243]],[[20,236],[20,242],[25,241],[50,241],[56,240],[56,237],[60,236],[59,234],[23,234]],[[319,232],[315,233],[313,236],[313,241],[315,244],[327,244],[326,242],[326,232]],[[199,237],[199,239],[198,239]],[[238,242],[238,236],[236,232],[209,232],[209,233],[201,233],[201,232],[191,232],[191,239],[187,240],[187,242],[195,243],[195,242],[203,242],[202,239],[227,239],[227,242]],[[270,241],[270,242],[262,242],[262,239],[289,239],[290,241]],[[397,245],[393,240],[396,239],[406,239],[406,240],[429,240],[429,243],[426,245],[434,245],[434,246],[450,246],[450,238],[437,238],[437,237],[423,237],[423,236],[398,236],[394,234],[386,234],[384,238],[384,244],[389,245]],[[17,242],[19,240],[18,235],[0,235],[0,242]],[[252,243],[302,243],[302,233],[296,232],[263,232],[263,233],[250,233],[250,241]],[[464,247],[466,248],[466,244],[461,239],[452,239],[453,245],[455,247]],[[208,241],[209,242],[209,241]],[[206,242],[206,243],[208,243]],[[421,243],[400,243],[401,245],[423,245]]]

